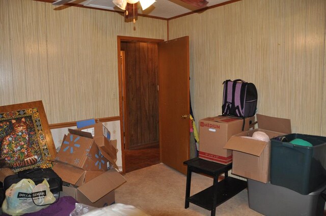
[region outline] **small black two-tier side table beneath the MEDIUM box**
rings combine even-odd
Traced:
[[[210,210],[211,216],[215,215],[216,207],[227,201],[234,195],[247,188],[247,181],[228,176],[228,171],[232,169],[232,163],[228,165],[194,158],[183,162],[187,165],[187,182],[185,191],[185,206],[193,203],[202,208]],[[213,177],[213,185],[193,196],[190,196],[192,172],[206,174]],[[219,175],[224,173],[225,178],[218,182]]]

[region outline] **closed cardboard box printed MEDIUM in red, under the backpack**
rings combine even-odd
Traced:
[[[232,163],[232,151],[224,149],[231,136],[249,130],[254,117],[243,119],[232,116],[207,117],[199,121],[199,158],[220,164]]]

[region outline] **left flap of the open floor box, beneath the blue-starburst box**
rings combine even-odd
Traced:
[[[80,179],[85,177],[85,171],[83,169],[73,167],[69,164],[58,162],[52,168],[63,181],[71,184],[76,184]]]

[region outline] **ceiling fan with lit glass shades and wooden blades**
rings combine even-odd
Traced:
[[[52,5],[64,5],[72,0],[58,0],[53,2]],[[164,0],[166,1],[166,0]],[[206,0],[180,0],[188,5],[194,6],[198,9],[204,8],[207,6],[208,1]],[[112,1],[118,8],[125,11],[125,19],[129,20],[133,18],[133,22],[135,22],[135,18],[138,16],[138,2],[140,2],[142,9],[145,10],[152,4],[154,4],[155,0],[113,0]]]

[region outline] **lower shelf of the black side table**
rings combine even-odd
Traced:
[[[230,176],[219,181],[218,194],[216,199],[217,203],[214,207],[224,203],[245,188],[247,188],[247,181],[243,181],[241,179],[233,178]],[[213,186],[191,197],[186,198],[186,200],[211,211],[213,208]]]

